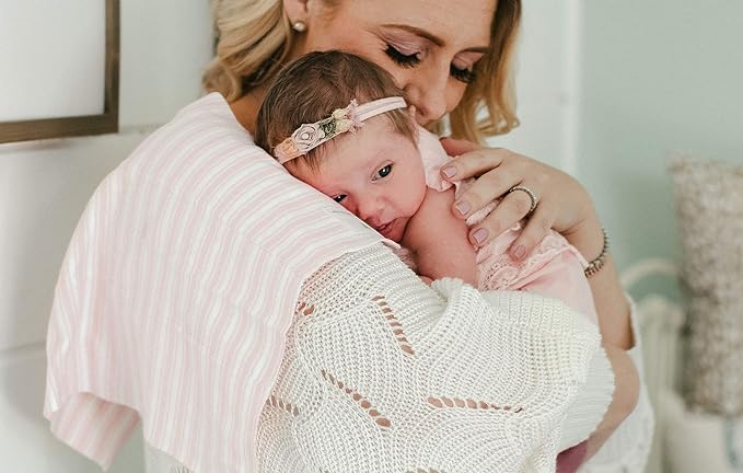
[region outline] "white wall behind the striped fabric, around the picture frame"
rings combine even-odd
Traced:
[[[120,132],[0,146],[3,472],[98,471],[56,440],[42,415],[44,339],[54,285],[77,220],[97,183],[147,131],[199,95],[201,68],[210,58],[207,0],[120,4]],[[63,55],[53,46],[49,54]],[[135,436],[112,471],[142,470],[141,439]]]

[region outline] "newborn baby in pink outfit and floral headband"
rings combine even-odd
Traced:
[[[467,183],[455,188],[440,177],[450,158],[416,124],[402,95],[386,71],[364,59],[313,53],[287,67],[267,92],[256,143],[292,175],[400,243],[404,259],[423,279],[455,277],[480,290],[533,291],[561,299],[599,324],[587,263],[559,233],[549,233],[518,263],[507,249],[519,227],[480,249],[469,243],[468,226],[494,205],[466,222],[452,215],[455,192]],[[616,385],[604,418],[625,418],[637,399],[637,373],[617,369],[631,366],[623,350],[604,349]]]

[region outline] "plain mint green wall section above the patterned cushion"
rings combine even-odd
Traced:
[[[743,163],[743,2],[582,2],[578,177],[619,269],[681,261],[665,158]]]

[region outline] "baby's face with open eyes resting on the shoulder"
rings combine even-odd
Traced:
[[[325,151],[318,172],[301,165],[293,174],[399,242],[426,195],[418,149],[385,117],[371,118],[357,132],[338,138]]]

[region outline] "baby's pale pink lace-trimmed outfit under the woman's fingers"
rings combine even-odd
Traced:
[[[473,180],[452,184],[441,178],[441,166],[452,160],[439,139],[420,128],[418,147],[426,169],[426,184],[443,192],[455,185],[460,196],[472,185]],[[491,204],[467,219],[472,227],[480,222],[494,208]],[[519,236],[521,224],[516,223],[504,233],[477,251],[477,288],[480,290],[525,290],[560,299],[572,309],[597,321],[591,287],[583,268],[588,262],[559,233],[550,230],[534,251],[520,262],[511,259],[508,247]]]

